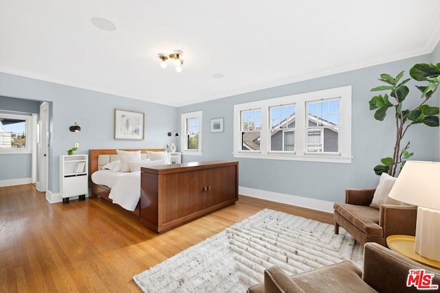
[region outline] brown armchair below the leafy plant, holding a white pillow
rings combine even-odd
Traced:
[[[360,244],[376,242],[386,246],[389,235],[415,235],[417,207],[381,204],[370,207],[375,189],[347,189],[345,203],[333,204],[335,233],[344,228]]]

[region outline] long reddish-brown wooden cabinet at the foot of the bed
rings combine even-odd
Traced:
[[[238,196],[236,161],[142,167],[140,221],[162,233],[234,204]]]

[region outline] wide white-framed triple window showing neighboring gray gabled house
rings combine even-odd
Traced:
[[[234,105],[234,156],[351,163],[351,86]]]

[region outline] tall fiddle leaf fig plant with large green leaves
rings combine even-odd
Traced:
[[[404,71],[401,71],[396,78],[388,74],[381,74],[379,80],[386,85],[371,89],[371,91],[389,91],[390,93],[389,95],[386,93],[384,95],[376,95],[370,100],[370,110],[375,110],[375,119],[383,121],[387,110],[391,108],[393,109],[391,115],[394,116],[396,124],[396,141],[393,156],[381,159],[382,164],[374,167],[377,175],[385,172],[391,176],[397,176],[397,170],[400,170],[406,160],[412,156],[413,153],[408,150],[410,142],[408,141],[404,148],[401,145],[402,139],[410,126],[415,124],[424,124],[430,127],[439,126],[439,107],[429,106],[426,102],[428,102],[439,87],[440,63],[437,63],[437,65],[416,64],[410,69],[411,78],[401,81],[403,76]],[[424,82],[424,85],[416,86],[421,92],[419,104],[415,108],[406,109],[404,108],[404,101],[410,91],[406,83],[411,79]]]

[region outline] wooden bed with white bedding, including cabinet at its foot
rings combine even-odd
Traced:
[[[148,164],[136,165],[132,162],[129,166],[131,172],[112,172],[102,167],[112,165],[118,159],[122,163],[117,150],[89,150],[91,198],[99,196],[120,204],[124,209],[133,211],[140,217],[142,224],[157,233],[200,218],[238,200],[237,161],[170,164],[169,159],[164,159],[166,153],[163,149],[122,151],[126,154],[140,151],[142,157],[137,157],[137,160],[141,162],[144,162],[148,152]],[[124,171],[124,167],[121,169]],[[97,174],[104,176],[99,178]],[[118,195],[115,195],[115,189],[118,189]],[[133,194],[135,197],[132,197]]]

